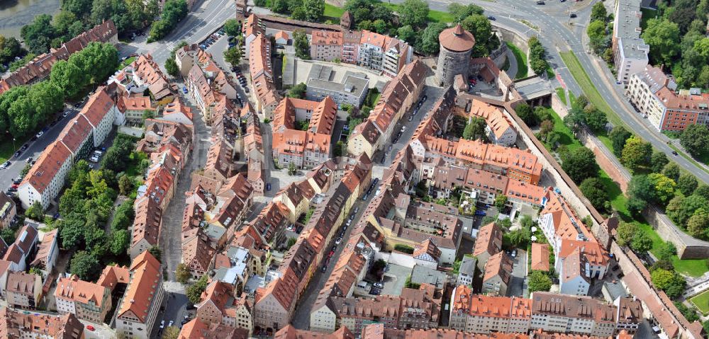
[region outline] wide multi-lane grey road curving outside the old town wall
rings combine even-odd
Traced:
[[[392,0],[393,3],[401,3],[403,0]],[[608,67],[598,57],[589,54],[584,45],[584,37],[586,36],[586,24],[591,13],[591,5],[596,1],[564,1],[547,0],[545,6],[535,5],[533,0],[428,0],[431,9],[437,11],[447,11],[448,5],[453,2],[459,4],[476,4],[485,9],[486,14],[496,16],[496,22],[493,25],[506,26],[520,32],[526,32],[528,35],[539,33],[542,37],[540,41],[545,46],[549,55],[549,62],[552,67],[556,66],[554,71],[562,76],[564,84],[569,91],[579,95],[583,93],[581,88],[566,67],[564,62],[559,57],[559,52],[572,51],[576,54],[581,62],[581,67],[586,70],[591,82],[596,86],[598,92],[608,103],[610,108],[620,117],[620,120],[627,125],[632,132],[647,140],[652,146],[664,152],[669,159],[673,159],[676,163],[684,168],[689,173],[693,173],[699,180],[704,183],[709,183],[709,172],[705,166],[696,165],[693,161],[686,159],[684,156],[672,155],[673,148],[668,142],[672,142],[669,137],[661,134],[655,127],[649,124],[647,120],[640,117],[632,108],[630,103],[625,99],[623,86],[616,85],[613,74],[610,73]],[[570,19],[570,13],[576,13],[578,18]],[[530,27],[521,23],[527,21],[536,25],[539,32],[531,30]],[[677,149],[681,149],[679,144],[675,144]]]

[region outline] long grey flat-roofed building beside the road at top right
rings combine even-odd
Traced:
[[[640,0],[615,1],[613,13],[613,59],[618,81],[627,84],[630,76],[647,66],[650,46],[640,38]]]

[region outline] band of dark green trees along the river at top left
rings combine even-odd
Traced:
[[[116,24],[118,34],[125,34],[147,27],[159,13],[157,0],[64,0],[54,18],[35,16],[20,35],[30,52],[42,54],[108,19]]]

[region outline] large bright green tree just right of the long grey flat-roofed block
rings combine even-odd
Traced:
[[[671,64],[679,54],[679,26],[665,18],[650,18],[640,37],[650,45],[652,64]]]

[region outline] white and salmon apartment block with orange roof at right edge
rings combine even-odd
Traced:
[[[709,125],[709,94],[699,88],[677,91],[661,69],[647,66],[630,76],[630,103],[659,131],[681,132],[689,125]]]

